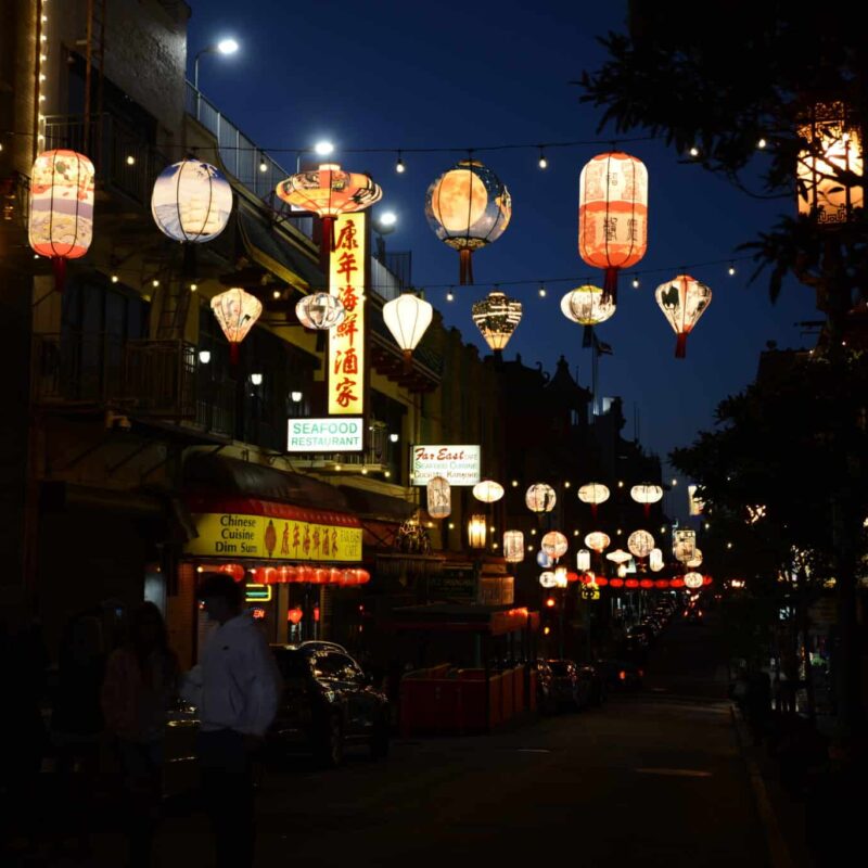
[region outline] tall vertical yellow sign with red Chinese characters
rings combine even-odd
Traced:
[[[365,212],[342,214],[334,222],[334,250],[329,257],[329,292],[346,309],[329,332],[329,414],[365,411],[365,273],[368,261]]]

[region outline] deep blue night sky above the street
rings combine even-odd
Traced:
[[[416,285],[482,349],[487,347],[471,320],[471,304],[495,283],[529,281],[501,286],[524,303],[506,358],[520,353],[525,363],[541,362],[553,372],[563,354],[590,385],[590,350],[582,348],[582,330],[562,316],[559,303],[582,283],[601,285],[601,273],[577,253],[578,175],[591,156],[610,150],[614,132],[597,133],[598,114],[579,104],[580,90],[569,82],[600,65],[604,52],[596,37],[624,29],[626,3],[319,0],[298,7],[259,0],[251,14],[238,0],[189,2],[191,67],[200,48],[224,36],[242,46],[231,58],[205,55],[200,62],[200,86],[218,108],[257,144],[292,151],[272,152],[291,170],[295,150],[328,138],[339,148],[334,159],[370,173],[384,190],[376,207],[399,218],[388,250],[412,251]],[[394,153],[341,153],[574,140],[600,144],[549,150],[546,170],[538,168],[535,150],[477,154],[509,188],[512,221],[499,241],[474,256],[476,283],[456,286],[452,303],[441,284],[458,282],[458,254],[429,228],[424,194],[464,154],[405,154],[407,171],[398,175]],[[687,359],[676,360],[675,334],[654,302],[654,288],[681,265],[743,255],[735,247],[770,227],[778,214],[792,213],[794,203],[751,199],[663,142],[625,143],[622,150],[649,169],[649,250],[634,269],[640,288],[631,288],[633,272],[623,276],[617,312],[599,329],[614,350],[600,361],[600,393],[623,397],[625,436],[634,436],[638,413],[641,442],[665,459],[713,424],[722,398],[754,379],[767,341],[780,348],[809,345],[813,339],[800,335],[794,323],[819,317],[810,291],[795,283],[773,306],[765,277],[749,284],[750,261],[737,263],[735,277],[727,273],[728,261],[692,268],[714,297],[688,340]],[[548,282],[552,278],[575,280]],[[546,298],[538,295],[540,279]],[[680,505],[672,506],[680,511]]]

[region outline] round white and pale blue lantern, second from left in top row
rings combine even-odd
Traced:
[[[216,166],[182,159],[157,176],[151,215],[164,235],[201,244],[217,238],[232,214],[232,188]]]

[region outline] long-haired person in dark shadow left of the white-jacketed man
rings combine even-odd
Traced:
[[[102,711],[115,739],[126,795],[128,864],[151,864],[159,810],[167,712],[176,699],[178,659],[152,602],[130,615],[126,642],[105,667]]]

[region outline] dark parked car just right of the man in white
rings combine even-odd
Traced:
[[[388,699],[344,648],[316,641],[271,648],[283,676],[267,735],[272,753],[307,751],[327,767],[341,765],[349,745],[363,744],[374,757],[388,753]]]

